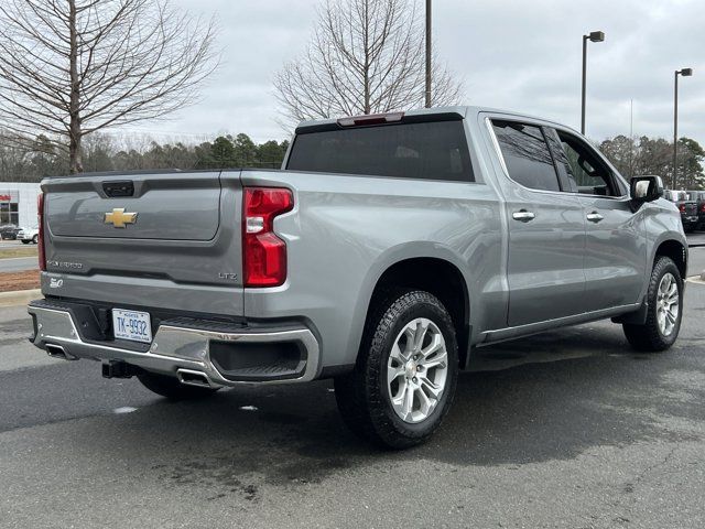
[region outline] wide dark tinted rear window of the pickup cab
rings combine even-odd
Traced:
[[[463,120],[341,127],[296,133],[288,170],[475,182]]]

